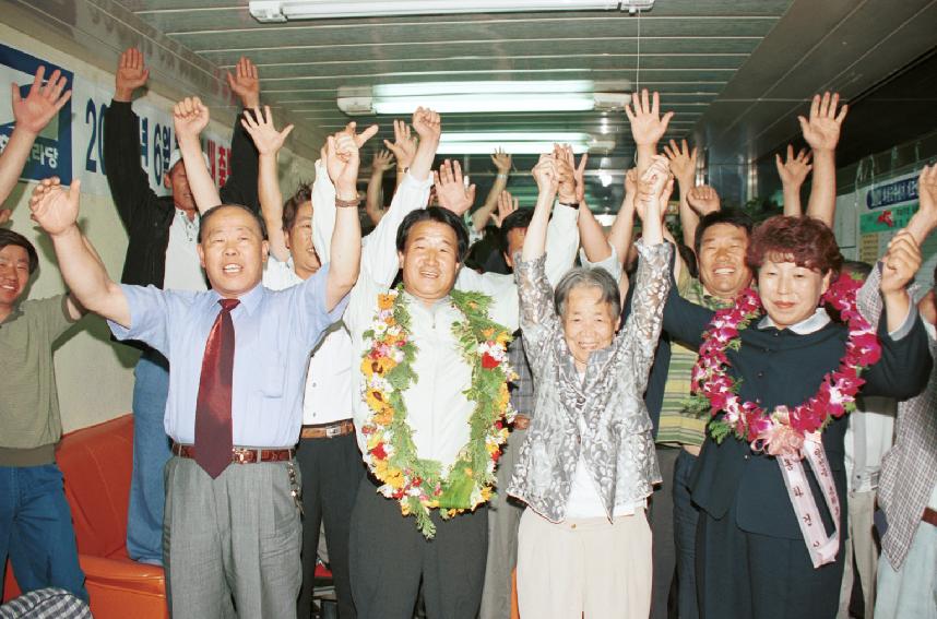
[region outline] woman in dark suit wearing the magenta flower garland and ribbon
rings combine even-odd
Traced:
[[[759,293],[734,308],[713,312],[672,287],[664,310],[666,331],[702,346],[693,378],[702,414],[713,415],[690,485],[701,509],[700,617],[828,619],[843,572],[844,414],[856,392],[901,400],[929,376],[927,336],[905,291],[920,253],[890,249],[877,325],[854,311],[856,286],[837,282],[842,255],[817,219],[766,221],[746,262]]]

